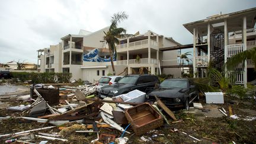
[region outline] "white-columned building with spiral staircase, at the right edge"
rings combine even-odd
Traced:
[[[225,66],[233,55],[255,47],[255,14],[256,8],[251,8],[184,24],[193,34],[194,77],[205,77],[211,61],[226,77],[235,74],[236,84],[244,84],[246,87],[247,81],[255,79],[251,60],[244,63],[244,68],[239,65],[236,73],[227,71]]]

